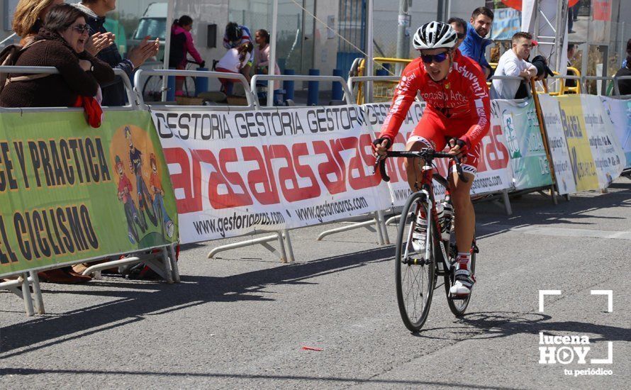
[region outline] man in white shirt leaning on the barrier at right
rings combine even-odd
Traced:
[[[513,48],[504,52],[494,76],[518,76],[525,82],[530,82],[532,77],[537,76],[535,65],[526,62],[530,56],[532,45],[532,35],[530,33],[519,32],[513,35]],[[493,79],[491,85],[491,99],[515,99],[515,94],[519,89],[520,80]]]

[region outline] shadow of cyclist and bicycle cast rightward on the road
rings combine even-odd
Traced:
[[[545,335],[590,335],[589,340],[591,341],[631,341],[629,328],[580,321],[550,321],[551,319],[552,316],[541,313],[481,311],[468,313],[459,318],[457,324],[460,326],[428,328],[423,333],[431,333],[432,330],[450,330],[462,340],[506,338],[520,334],[539,335],[539,333],[544,333]],[[430,334],[423,335],[423,333],[419,333],[418,336],[435,338]],[[596,337],[591,337],[591,335],[596,335]]]

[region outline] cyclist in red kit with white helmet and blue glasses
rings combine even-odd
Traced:
[[[454,50],[456,43],[456,31],[442,22],[432,21],[416,30],[413,45],[420,51],[420,57],[403,70],[381,134],[374,140],[374,148],[375,155],[386,154],[417,91],[420,91],[427,106],[423,118],[407,141],[406,150],[426,147],[443,150],[449,145],[450,154],[463,157],[462,169],[469,179],[462,182],[454,174],[455,170],[450,169],[449,194],[458,216],[455,220],[458,255],[455,282],[450,292],[466,296],[475,282],[470,272],[469,254],[475,230],[470,191],[476,174],[480,141],[490,126],[491,104],[484,72],[474,60]],[[413,160],[406,161],[408,184],[412,191],[418,191],[423,162],[419,165]],[[418,252],[425,250],[426,218],[419,214],[417,228],[413,232],[413,249]]]

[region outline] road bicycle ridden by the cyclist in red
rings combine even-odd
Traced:
[[[412,332],[418,332],[428,318],[432,295],[438,277],[445,280],[445,292],[449,309],[455,316],[463,316],[467,310],[471,294],[467,296],[452,296],[449,289],[454,283],[454,271],[458,250],[455,244],[455,235],[452,234],[452,221],[455,213],[449,218],[447,213],[442,216],[442,211],[437,208],[434,196],[433,180],[449,189],[449,182],[435,171],[434,159],[449,158],[454,160],[459,179],[467,182],[462,174],[460,159],[455,155],[445,152],[437,152],[432,149],[408,152],[388,152],[388,157],[417,157],[425,161],[421,172],[423,179],[420,190],[413,192],[403,206],[401,221],[398,224],[395,252],[395,282],[396,299],[401,318],[406,328]],[[379,166],[381,178],[389,182],[386,174],[385,158],[378,157],[375,168]],[[441,206],[447,210],[453,210],[451,201],[446,196]],[[418,213],[426,216],[425,226],[426,241],[425,252],[418,253],[412,247],[412,233],[416,227]],[[427,217],[429,216],[429,217]],[[445,232],[445,234],[443,234]],[[475,236],[475,235],[474,235]],[[476,253],[479,252],[474,237],[471,245],[471,275],[475,273]],[[472,291],[471,291],[472,292]]]

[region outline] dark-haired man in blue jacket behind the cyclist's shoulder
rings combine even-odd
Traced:
[[[486,35],[491,31],[493,23],[493,11],[486,7],[479,7],[471,14],[471,21],[467,27],[467,37],[460,45],[462,55],[466,55],[477,62],[488,78],[491,75],[491,65],[488,65],[484,52],[486,46],[491,45],[492,41],[486,39]]]

